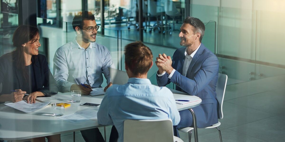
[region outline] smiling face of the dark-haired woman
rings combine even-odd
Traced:
[[[24,52],[28,55],[38,55],[38,47],[40,47],[39,34],[32,40],[22,44]]]

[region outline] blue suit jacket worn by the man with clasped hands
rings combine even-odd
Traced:
[[[182,76],[184,53],[186,47],[177,49],[172,58],[172,67],[176,70],[171,77],[168,74],[156,76],[158,86],[170,82],[176,85],[176,90],[195,95],[202,99],[201,105],[193,108],[197,117],[197,126],[205,128],[218,122],[216,84],[218,79],[219,61],[202,43],[194,55],[186,76]]]

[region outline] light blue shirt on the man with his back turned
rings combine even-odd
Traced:
[[[115,125],[119,142],[123,142],[126,119],[172,119],[178,125],[180,115],[173,93],[166,87],[152,85],[150,80],[129,78],[124,85],[112,85],[105,93],[97,113],[98,123]]]

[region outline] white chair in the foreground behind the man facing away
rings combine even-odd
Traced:
[[[173,136],[171,119],[125,120],[124,142],[183,142]]]

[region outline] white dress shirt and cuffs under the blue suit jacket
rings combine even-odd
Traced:
[[[184,63],[183,63],[183,68],[182,68],[182,76],[186,76],[187,74],[187,71],[188,71],[188,68],[190,66],[190,63],[194,57],[194,55],[196,54],[196,52],[198,51],[198,49],[200,48],[201,46],[201,43],[200,45],[198,46],[198,48],[190,55],[188,55],[188,52],[187,52],[187,47],[185,49],[185,52],[184,52],[184,56],[185,56],[185,59],[184,59]],[[172,75],[174,74],[176,70],[173,69],[172,72],[170,73],[170,75],[168,76],[169,79],[171,79]],[[156,73],[157,74],[157,73]],[[162,74],[157,74],[157,76],[163,76],[165,74],[165,71],[162,73]]]

